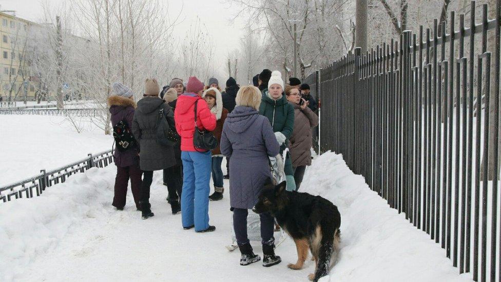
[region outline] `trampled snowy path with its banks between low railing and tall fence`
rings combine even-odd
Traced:
[[[224,164],[223,164],[224,166]],[[228,252],[232,213],[228,191],[209,203],[217,230],[198,234],[172,215],[157,172],[151,188],[155,216],[142,220],[129,192],[124,211],[111,206],[115,167],[93,168],[52,186],[41,197],[0,205],[0,280],[22,281],[307,281],[314,262],[299,271],[296,247],[287,238],[276,249],[282,263],[239,266]],[[225,186],[228,187],[227,180]],[[426,233],[417,230],[372,192],[334,153],[319,156],[301,185],[341,212],[341,254],[322,281],[458,281],[452,262]],[[262,256],[260,247],[255,253]]]

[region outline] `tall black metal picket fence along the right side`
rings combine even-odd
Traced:
[[[341,153],[475,281],[501,280],[499,3],[493,20],[472,2],[469,27],[451,12],[307,79],[319,84],[320,152]]]

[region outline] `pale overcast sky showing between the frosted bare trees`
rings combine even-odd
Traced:
[[[59,6],[70,0],[44,0],[50,7]],[[181,10],[181,0],[163,0],[169,4],[169,14],[174,16]],[[15,10],[16,16],[39,22],[42,17],[42,1],[40,0],[0,0],[2,10]],[[189,25],[201,18],[214,39],[215,63],[224,68],[228,52],[239,47],[240,37],[243,36],[245,21],[241,18],[234,23],[230,19],[238,12],[238,7],[221,0],[184,0],[181,19],[184,21],[176,26],[175,33],[184,34]]]

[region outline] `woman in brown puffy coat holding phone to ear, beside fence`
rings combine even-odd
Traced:
[[[306,166],[312,165],[312,127],[318,125],[318,116],[307,107],[306,101],[294,86],[286,87],[285,95],[287,101],[294,106],[294,130],[289,148],[297,191],[303,181]]]

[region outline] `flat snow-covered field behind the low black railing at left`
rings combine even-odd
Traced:
[[[113,139],[82,119],[77,133],[64,117],[0,115],[0,186],[111,149]]]

